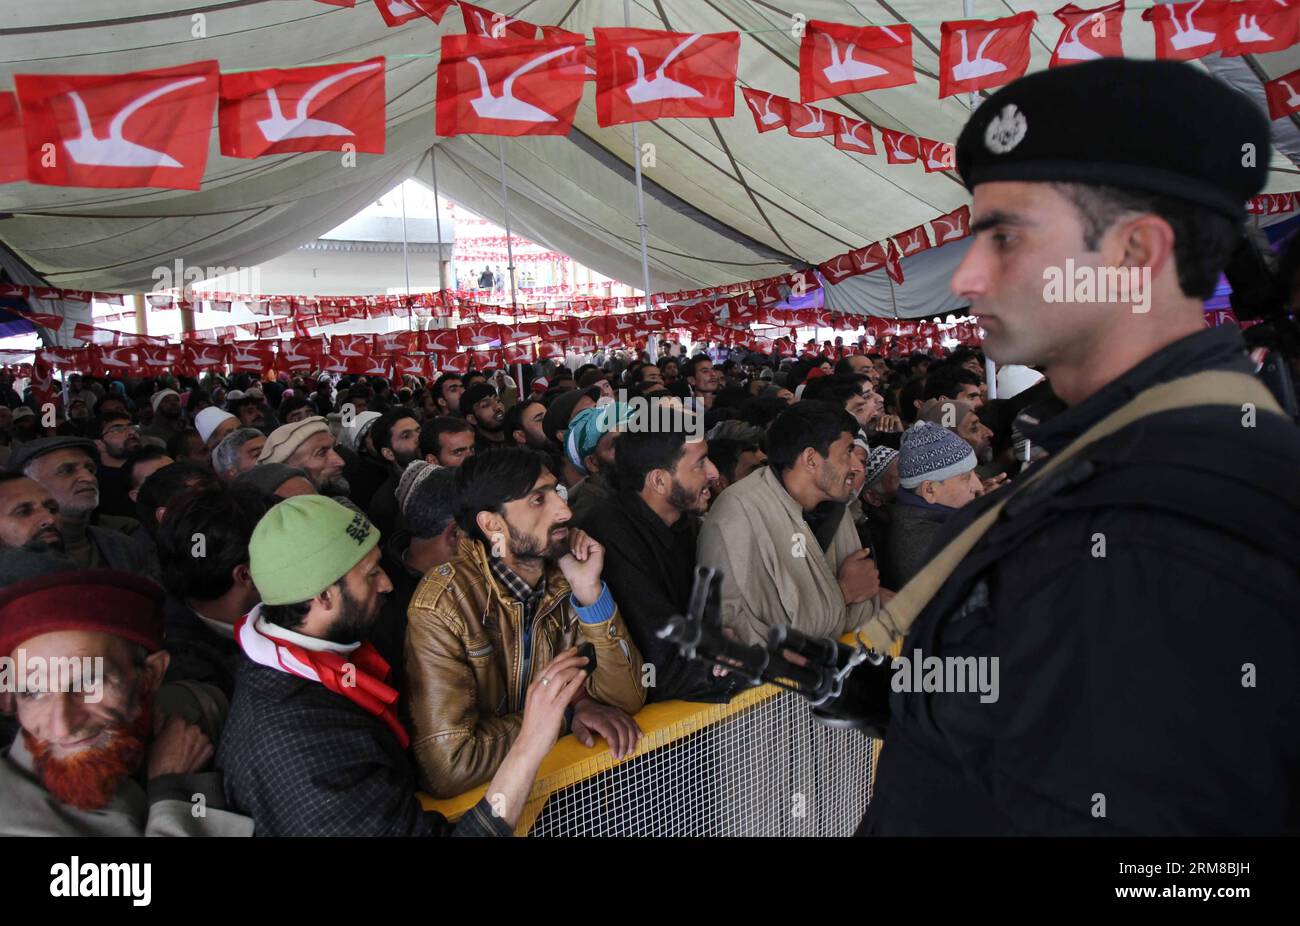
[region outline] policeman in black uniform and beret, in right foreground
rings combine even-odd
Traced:
[[[971,116],[952,289],[1060,403],[863,627],[907,662],[861,832],[1300,831],[1300,436],[1202,323],[1269,156],[1249,98],[1171,61]]]

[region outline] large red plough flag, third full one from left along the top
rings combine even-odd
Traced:
[[[566,135],[582,99],[577,39],[443,35],[438,134]]]

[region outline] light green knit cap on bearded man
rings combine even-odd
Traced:
[[[248,541],[254,585],[266,605],[308,601],[380,542],[365,515],[328,496],[295,496],[268,511]]]

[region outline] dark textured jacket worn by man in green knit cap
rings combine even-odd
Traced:
[[[452,826],[416,799],[406,750],[377,717],[240,658],[217,749],[226,799],[257,836],[508,836],[485,797]]]

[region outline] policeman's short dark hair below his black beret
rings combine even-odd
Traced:
[[[1083,245],[1097,250],[1101,235],[1122,216],[1152,213],[1174,230],[1174,263],[1183,295],[1209,299],[1242,238],[1242,222],[1214,209],[1156,192],[1087,183],[1053,183],[1083,222]]]

